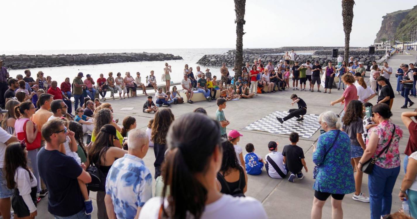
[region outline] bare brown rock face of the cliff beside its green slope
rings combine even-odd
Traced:
[[[377,33],[377,38],[374,40],[374,42],[381,42],[382,38],[394,39],[397,32],[397,27],[399,27],[402,20],[407,16],[407,14],[411,10],[412,9],[399,10],[382,16],[383,19],[381,28],[379,29]]]

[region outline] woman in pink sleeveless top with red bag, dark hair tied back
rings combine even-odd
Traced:
[[[24,126],[26,122],[26,140],[29,143],[32,143],[36,139],[36,135],[40,130],[38,130],[38,126],[33,123],[29,118],[35,114],[35,106],[32,102],[22,102],[19,106],[15,107],[15,115],[16,115],[16,122],[15,122],[15,133],[18,134],[19,132],[24,132]],[[36,157],[38,156],[38,150],[30,150],[28,151],[28,166],[30,169],[33,170],[33,174],[38,180],[38,193],[40,192],[40,177],[38,172],[38,161]]]

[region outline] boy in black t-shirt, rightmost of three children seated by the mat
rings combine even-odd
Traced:
[[[289,140],[291,144],[285,145],[282,150],[282,156],[284,156],[284,163],[288,168],[291,175],[288,178],[289,182],[294,182],[295,174],[299,180],[304,178],[301,170],[304,169],[308,172],[306,162],[304,161],[304,152],[301,147],[297,146],[299,136],[297,132],[291,132]]]

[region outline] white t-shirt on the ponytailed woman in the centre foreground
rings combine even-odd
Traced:
[[[162,197],[153,197],[143,205],[139,219],[158,219]],[[168,206],[168,202],[164,202]],[[190,215],[186,217],[191,219]],[[217,201],[207,204],[201,219],[239,218],[239,219],[266,219],[266,212],[261,202],[252,197],[232,197],[222,195]]]

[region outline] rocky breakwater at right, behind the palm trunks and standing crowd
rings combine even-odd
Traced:
[[[380,56],[377,56],[377,55],[352,55],[352,56],[354,57],[354,60],[359,60],[359,62],[364,62],[365,65],[371,65],[372,61],[379,60],[381,58]],[[261,58],[262,63],[264,65],[267,65],[269,61],[271,61],[273,65],[276,65],[277,63],[279,63],[279,60],[283,60],[282,55],[246,54],[243,56],[242,65],[244,65],[245,62],[249,62],[250,65],[252,65],[254,63],[254,60],[258,60],[259,58]],[[306,60],[310,60],[311,62],[318,60],[320,62],[320,65],[327,65],[329,60],[332,60],[333,63],[337,62],[337,58],[332,58],[332,55],[297,55],[295,60],[301,63],[305,63]],[[197,64],[220,66],[221,63],[223,62],[225,62],[227,66],[234,66],[235,55],[227,55],[227,54],[204,55],[203,57],[201,57],[200,60],[198,60]]]

